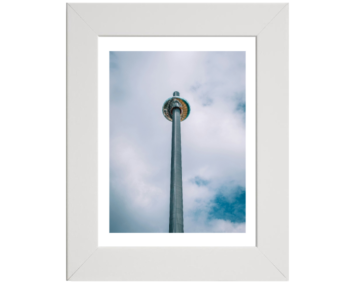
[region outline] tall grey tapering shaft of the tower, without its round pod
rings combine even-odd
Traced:
[[[175,94],[174,94],[175,96]],[[170,174],[169,233],[183,233],[180,109],[172,110],[172,160]]]

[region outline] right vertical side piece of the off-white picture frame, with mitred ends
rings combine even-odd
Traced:
[[[288,4],[256,42],[256,246],[288,279]]]

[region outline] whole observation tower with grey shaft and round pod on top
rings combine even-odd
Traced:
[[[163,104],[165,118],[173,122],[169,233],[183,233],[180,122],[189,116],[190,110],[190,104],[179,92]]]

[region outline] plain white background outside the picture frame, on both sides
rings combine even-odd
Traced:
[[[66,279],[65,3],[1,3],[2,283]],[[353,283],[354,1],[289,8],[290,283]]]

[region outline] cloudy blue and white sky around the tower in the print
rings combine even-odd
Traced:
[[[110,52],[110,233],[168,233],[178,91],[185,233],[245,232],[245,52]]]

